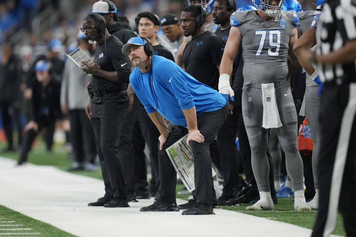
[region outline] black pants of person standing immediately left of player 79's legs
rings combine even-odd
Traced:
[[[227,119],[221,126],[217,141],[221,157],[221,169],[224,177],[223,195],[229,195],[234,191],[239,181],[239,163],[236,146],[236,136],[239,117],[233,112],[227,115]]]

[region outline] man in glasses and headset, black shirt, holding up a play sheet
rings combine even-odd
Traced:
[[[85,108],[94,128],[96,150],[99,155],[101,172],[105,184],[105,195],[89,206],[127,207],[124,193],[124,178],[117,149],[129,97],[125,90],[129,82],[131,66],[129,58],[121,52],[122,43],[111,36],[106,29],[103,16],[92,13],[83,20],[87,39],[96,41],[94,63],[82,70],[92,74],[90,92],[91,102]]]

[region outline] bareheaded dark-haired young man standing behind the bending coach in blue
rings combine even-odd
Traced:
[[[155,55],[174,61],[173,54],[162,44],[157,43],[156,33],[159,29],[159,21],[152,12],[141,12],[137,15],[138,34],[141,37],[150,39],[153,45]],[[150,117],[147,115],[145,107],[135,95],[135,109],[137,109],[136,122],[132,132],[132,147],[133,158],[135,164],[135,193],[137,198],[148,197],[150,191],[151,196],[156,196],[159,187],[159,168],[158,168],[158,137],[159,132],[155,124],[153,124]],[[151,174],[152,179],[149,190],[147,190],[147,172],[146,161],[143,150],[145,149],[145,142],[150,149]]]

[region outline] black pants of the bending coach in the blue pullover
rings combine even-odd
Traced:
[[[198,203],[211,204],[213,202],[213,177],[211,176],[210,143],[215,139],[220,127],[227,117],[227,104],[216,111],[201,113],[197,117],[198,129],[204,136],[204,142],[190,141],[194,157],[194,183]],[[158,151],[159,159],[159,197],[164,203],[176,203],[177,173],[168,158],[166,149],[179,140],[182,135],[178,129],[172,129],[163,149]],[[159,143],[159,142],[158,142]]]

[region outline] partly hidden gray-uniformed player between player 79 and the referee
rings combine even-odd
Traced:
[[[319,14],[324,5],[325,0],[316,1],[316,11],[300,12],[299,23],[300,27],[298,31],[303,35],[294,44],[293,51],[303,66],[305,72],[307,72],[307,80],[305,87],[305,115],[308,116],[308,124],[312,131],[313,139],[313,177],[315,186],[315,196],[312,201],[308,203],[311,208],[318,209],[319,206],[319,184],[317,179],[318,163],[319,163],[319,151],[321,145],[321,125],[319,122],[319,114],[321,108],[321,99],[318,96],[318,90],[320,89],[320,79],[318,72],[314,69],[309,62],[308,51],[313,50],[316,45],[315,32],[316,22],[319,18]],[[320,85],[320,86],[319,86]],[[304,114],[303,114],[304,115]]]

